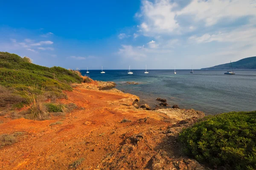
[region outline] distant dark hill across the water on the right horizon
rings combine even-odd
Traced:
[[[239,61],[232,62],[233,69],[256,69],[256,57],[248,57],[240,59]],[[202,70],[207,69],[229,69],[230,63],[216,65],[209,68],[201,68]]]

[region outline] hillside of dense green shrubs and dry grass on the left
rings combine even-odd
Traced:
[[[62,91],[72,91],[70,85],[82,81],[78,71],[35,65],[28,57],[0,52],[0,111],[29,104],[33,119],[44,117],[47,99],[66,98]]]

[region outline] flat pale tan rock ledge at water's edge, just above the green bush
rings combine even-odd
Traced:
[[[174,109],[174,108],[167,108],[167,109],[158,109],[157,112],[165,113],[170,118],[178,119],[178,120],[185,120],[190,118],[203,118],[204,112],[202,111],[195,111],[194,109]]]

